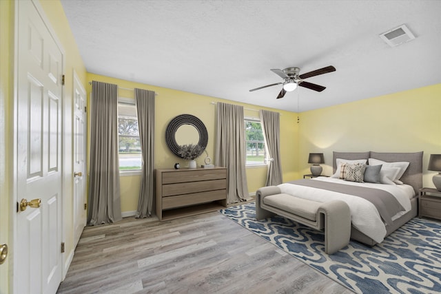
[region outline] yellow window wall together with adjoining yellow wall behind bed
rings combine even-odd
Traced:
[[[175,162],[185,166],[165,145],[165,128],[174,116],[193,114],[207,127],[207,151],[214,160],[216,106],[218,98],[170,90],[152,85],[123,81],[117,78],[88,74],[88,81],[115,83],[120,87],[140,87],[153,90],[156,96],[155,160],[154,168],[171,168]],[[88,92],[91,87],[88,85]],[[424,186],[433,187],[427,171],[430,154],[441,151],[441,84],[362,101],[326,107],[299,114],[280,112],[280,146],[283,161],[283,180],[301,178],[309,174],[309,152],[323,152],[325,165],[322,174],[332,174],[332,151],[424,151]],[[120,90],[121,96],[132,97],[132,91]],[[232,101],[223,101],[235,103]],[[256,105],[243,105],[260,109]],[[245,116],[258,117],[258,112],[245,110]],[[203,164],[203,156],[197,159]],[[265,185],[266,167],[247,168],[250,193]],[[139,176],[121,178],[121,207],[123,212],[135,211],[139,197]]]

